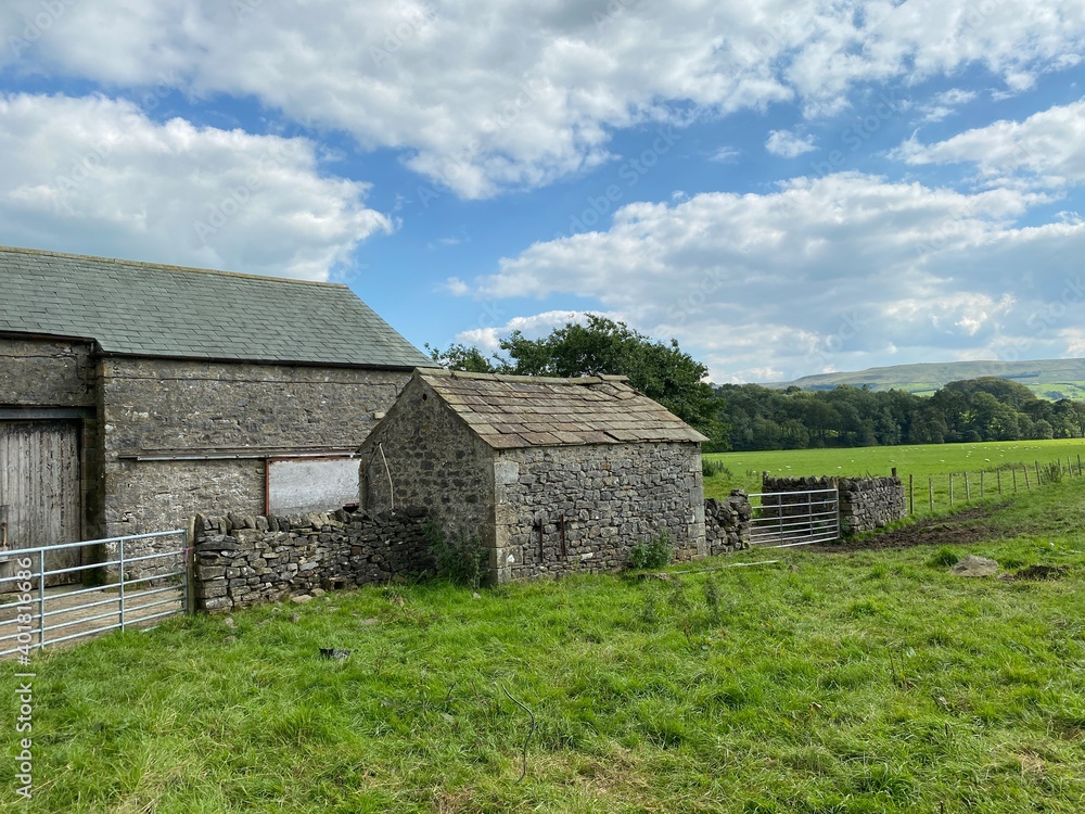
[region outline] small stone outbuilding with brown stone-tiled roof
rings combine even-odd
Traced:
[[[362,507],[477,536],[493,582],[616,570],[663,533],[701,557],[703,441],[621,377],[418,370],[359,450]]]

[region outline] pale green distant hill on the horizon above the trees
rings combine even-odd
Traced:
[[[931,395],[949,382],[997,376],[1019,382],[1041,398],[1085,400],[1085,359],[1041,359],[1036,361],[946,361],[920,365],[895,365],[870,368],[854,373],[818,373],[793,382],[767,382],[766,387],[791,385],[803,390],[832,390],[851,384],[870,390],[903,390]]]

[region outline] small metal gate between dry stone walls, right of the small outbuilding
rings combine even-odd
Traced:
[[[755,492],[750,503],[750,545],[787,548],[840,538],[837,489]]]

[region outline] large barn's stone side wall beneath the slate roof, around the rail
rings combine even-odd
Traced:
[[[181,527],[208,505],[265,511],[268,450],[356,448],[394,403],[409,372],[102,359],[104,525],[108,536]],[[235,460],[136,460],[168,450],[197,458],[252,450]]]

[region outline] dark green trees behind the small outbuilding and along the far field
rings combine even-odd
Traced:
[[[713,386],[707,368],[675,340],[658,342],[599,315],[537,340],[513,331],[501,340],[500,353],[488,357],[464,345],[426,349],[454,370],[626,376],[638,391],[709,436],[707,451],[1085,436],[1085,404],[1048,402],[997,377],[952,382],[931,396],[850,385],[824,391]]]

